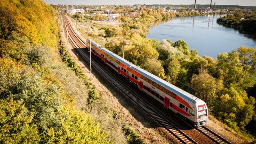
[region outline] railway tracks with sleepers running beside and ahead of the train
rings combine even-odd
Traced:
[[[65,23],[65,31],[71,44],[77,48],[77,52],[82,55],[82,57],[90,62],[89,53],[85,51],[84,41],[75,33],[74,29],[71,27],[66,16],[63,16],[63,21]],[[143,114],[146,114],[150,117],[158,126],[163,127],[167,135],[171,135],[175,140],[180,143],[197,143],[195,140],[190,138],[186,133],[182,132],[176,124],[173,124],[166,118],[164,114],[158,113],[159,110],[156,110],[154,106],[149,105],[145,100],[138,97],[137,91],[133,89],[128,89],[129,87],[123,80],[121,76],[116,75],[116,71],[109,70],[108,66],[105,65],[101,60],[92,57],[92,66],[97,73],[105,77],[105,79],[111,83],[117,90],[119,90],[127,99],[129,99],[134,106],[139,108]],[[104,70],[102,70],[102,68]],[[230,143],[227,140],[220,137],[217,133],[207,129],[207,127],[196,128],[197,131],[205,134],[209,139],[215,143]]]

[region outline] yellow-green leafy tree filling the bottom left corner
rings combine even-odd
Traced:
[[[40,139],[32,119],[21,101],[0,99],[0,143],[37,143]]]

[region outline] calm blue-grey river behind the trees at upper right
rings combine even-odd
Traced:
[[[240,46],[256,47],[256,36],[219,25],[217,19],[221,16],[224,15],[173,18],[150,28],[146,38],[171,39],[173,42],[183,39],[190,50],[195,49],[199,55],[213,58]]]

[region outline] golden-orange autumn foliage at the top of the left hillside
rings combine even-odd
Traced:
[[[56,46],[58,27],[50,5],[40,0],[2,0],[1,7],[15,15],[11,33],[28,37],[31,43],[44,43],[52,48]]]

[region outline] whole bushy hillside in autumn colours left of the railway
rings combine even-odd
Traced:
[[[40,0],[0,3],[0,143],[109,143],[76,107],[89,87],[61,62],[58,27]],[[93,91],[94,92],[94,91]],[[97,93],[97,92],[94,92]]]

